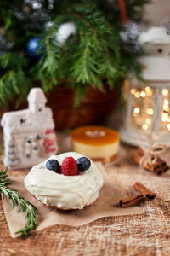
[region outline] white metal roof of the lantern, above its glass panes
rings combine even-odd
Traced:
[[[144,70],[144,79],[145,75],[148,76],[150,74],[152,76],[150,79],[155,80],[156,77],[159,79],[161,71],[161,78],[169,80],[170,34],[166,28],[161,26],[150,27],[146,32],[140,34],[139,44],[141,44],[144,52],[144,56],[141,57],[141,60],[139,58],[139,61],[145,67],[150,66],[149,69]],[[159,70],[158,73],[156,73],[156,69]]]

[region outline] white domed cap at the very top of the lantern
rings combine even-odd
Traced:
[[[139,36],[140,43],[170,43],[170,35],[164,27],[154,26],[148,31],[142,32]]]

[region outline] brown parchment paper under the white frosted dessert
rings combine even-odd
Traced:
[[[139,207],[129,207],[122,209],[118,202],[122,199],[122,192],[117,188],[114,179],[107,174],[105,167],[97,162],[97,167],[104,177],[104,186],[101,189],[99,200],[92,206],[85,207],[76,211],[61,211],[44,206],[37,201],[29,192],[27,192],[23,179],[24,177],[11,177],[12,187],[20,191],[27,201],[30,201],[37,207],[37,228],[42,230],[54,224],[64,224],[70,226],[81,226],[88,224],[95,219],[108,216],[123,216],[142,214]],[[18,207],[11,208],[8,200],[3,201],[3,209],[8,221],[8,228],[11,236],[16,237],[16,231],[20,230],[26,224],[25,214],[18,212]]]

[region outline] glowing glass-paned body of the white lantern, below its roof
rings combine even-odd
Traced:
[[[136,79],[130,81],[127,90],[127,104],[124,129],[127,128],[129,134],[132,132],[132,137],[134,137],[133,131],[143,134],[156,132],[156,135],[160,137],[167,136],[169,133],[170,137],[169,81],[161,83],[150,80],[147,84],[142,84]]]

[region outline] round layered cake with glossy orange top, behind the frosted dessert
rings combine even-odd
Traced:
[[[97,125],[82,126],[71,133],[72,148],[92,160],[107,164],[116,160],[119,151],[119,133]]]

